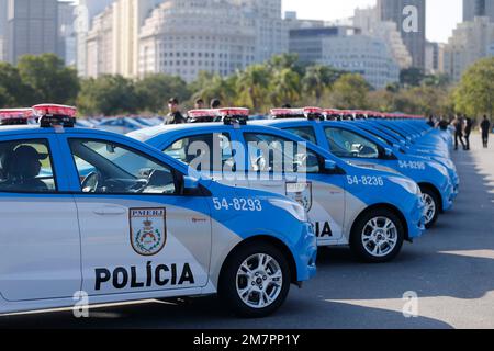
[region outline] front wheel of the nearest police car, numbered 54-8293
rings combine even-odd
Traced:
[[[225,262],[218,295],[235,315],[262,318],[280,308],[290,284],[290,265],[281,251],[269,244],[255,242],[240,247]],[[255,306],[257,303],[260,304]]]

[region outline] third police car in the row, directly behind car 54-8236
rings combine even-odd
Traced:
[[[314,117],[306,118],[307,111]],[[349,123],[324,121],[321,109],[273,109],[274,120],[258,122],[299,135],[335,156],[361,167],[385,166],[413,179],[426,204],[426,228],[431,228],[439,213],[451,208],[453,188],[442,165],[413,155],[393,151],[388,145]],[[300,117],[303,117],[301,120]]]

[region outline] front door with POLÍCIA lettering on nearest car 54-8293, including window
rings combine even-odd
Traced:
[[[206,197],[184,195],[183,176],[138,146],[66,137],[89,295],[203,287],[209,282]],[[137,148],[135,148],[137,147]]]

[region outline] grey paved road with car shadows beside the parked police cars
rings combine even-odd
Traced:
[[[213,297],[187,305],[146,303],[71,312],[0,317],[2,327],[41,328],[494,328],[494,150],[454,159],[462,192],[452,212],[396,261],[355,262],[347,249],[323,249],[318,275],[292,288],[276,316],[233,318]],[[418,295],[418,317],[403,315],[403,294]]]

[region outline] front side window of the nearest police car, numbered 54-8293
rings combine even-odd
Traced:
[[[83,193],[177,194],[175,172],[150,157],[108,141],[69,144]]]

